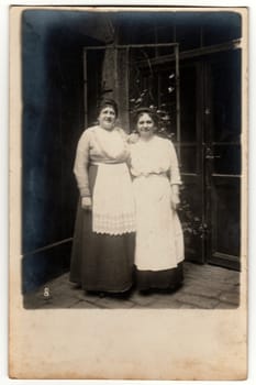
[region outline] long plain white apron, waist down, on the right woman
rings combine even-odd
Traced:
[[[135,265],[138,270],[177,267],[183,260],[183,234],[170,206],[170,185],[164,175],[149,174],[133,182],[136,202]]]

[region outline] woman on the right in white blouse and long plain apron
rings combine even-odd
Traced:
[[[182,282],[183,235],[177,207],[181,184],[172,143],[156,134],[156,117],[141,109],[131,145],[136,207],[136,285],[142,292],[175,289]]]

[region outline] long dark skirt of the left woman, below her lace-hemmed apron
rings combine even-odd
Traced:
[[[93,188],[97,166],[90,167]],[[134,233],[122,235],[92,232],[92,215],[78,202],[75,226],[70,282],[86,290],[123,293],[133,285]]]

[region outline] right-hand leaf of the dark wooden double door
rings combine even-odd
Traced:
[[[205,62],[207,260],[240,268],[241,52]]]

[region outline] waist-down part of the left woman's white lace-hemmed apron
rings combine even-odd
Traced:
[[[135,202],[126,164],[98,164],[92,197],[92,231],[121,235],[135,231]]]

